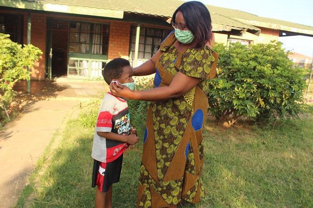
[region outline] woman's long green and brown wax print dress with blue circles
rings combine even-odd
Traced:
[[[198,203],[202,186],[202,130],[207,117],[207,81],[216,76],[218,55],[208,46],[180,52],[171,33],[160,45],[154,87],[169,86],[181,72],[201,78],[183,96],[153,102],[148,110],[137,207],[164,208],[180,200]]]

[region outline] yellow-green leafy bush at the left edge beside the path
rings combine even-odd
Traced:
[[[42,51],[31,45],[24,45],[12,42],[10,35],[0,33],[0,100],[8,104],[16,96],[13,86],[19,80],[29,80],[29,68],[38,61]]]

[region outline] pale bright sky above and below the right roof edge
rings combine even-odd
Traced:
[[[260,17],[313,27],[313,0],[199,0],[204,4],[236,9]],[[280,37],[285,50],[313,57],[313,37]]]

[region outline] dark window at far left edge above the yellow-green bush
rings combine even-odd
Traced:
[[[23,44],[23,16],[0,14],[0,33],[9,34],[13,42]]]

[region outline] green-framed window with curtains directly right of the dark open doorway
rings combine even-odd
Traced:
[[[109,34],[110,27],[106,24],[69,23],[69,76],[102,76],[108,58]]]

